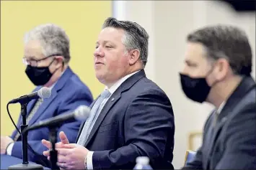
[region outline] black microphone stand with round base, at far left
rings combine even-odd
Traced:
[[[27,123],[26,123],[26,117],[27,117],[27,101],[24,101],[20,103],[21,105],[21,115],[22,115],[22,125],[20,126],[21,128],[21,133],[27,128]],[[21,134],[22,136],[22,164],[17,164],[13,166],[9,166],[8,169],[10,170],[17,170],[17,169],[33,169],[33,170],[43,170],[43,166],[39,164],[29,164],[28,159],[27,159],[27,132],[24,134]]]

